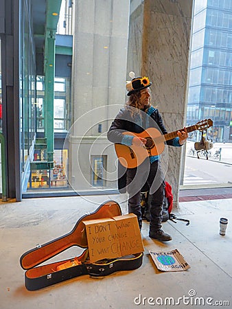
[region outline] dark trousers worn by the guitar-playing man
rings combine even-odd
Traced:
[[[162,208],[165,197],[164,177],[159,161],[150,163],[146,159],[138,168],[129,168],[126,172],[127,192],[129,194],[128,212],[138,218],[139,227],[142,226],[141,188],[147,182],[150,188],[150,231],[161,229]]]

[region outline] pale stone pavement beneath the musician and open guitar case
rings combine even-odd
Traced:
[[[145,247],[143,264],[135,271],[119,271],[96,279],[83,275],[43,290],[29,292],[19,265],[21,255],[73,229],[78,218],[112,199],[127,212],[123,195],[67,198],[34,198],[0,204],[1,309],[63,308],[231,308],[232,199],[180,203],[176,216],[190,225],[167,221],[163,229],[172,235],[162,243],[148,237],[148,222],[141,231]],[[219,235],[219,219],[229,219],[226,236]],[[149,251],[178,249],[191,266],[188,271],[158,271]],[[72,247],[47,261],[80,255]],[[200,300],[199,300],[200,299]],[[201,303],[199,304],[199,301]],[[163,304],[163,305],[161,305]],[[170,305],[171,304],[171,305]]]

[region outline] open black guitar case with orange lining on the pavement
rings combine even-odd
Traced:
[[[83,221],[113,216],[121,216],[121,208],[115,201],[107,201],[93,213],[82,216],[71,232],[45,244],[38,244],[36,248],[23,253],[20,264],[26,270],[25,287],[27,290],[38,290],[81,275],[101,277],[115,273],[115,271],[130,271],[139,268],[143,262],[143,253],[111,260],[104,259],[94,263],[88,262],[88,242]],[[73,246],[84,249],[77,258],[38,266]],[[76,260],[80,264],[76,264]],[[64,264],[71,264],[71,266],[62,268]]]

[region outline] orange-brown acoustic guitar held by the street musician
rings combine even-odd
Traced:
[[[192,132],[194,130],[207,130],[213,126],[213,121],[211,119],[201,120],[197,122],[193,126],[188,126],[187,133]],[[171,133],[167,133],[165,135],[161,135],[160,131],[156,128],[148,128],[144,130],[142,133],[132,133],[132,132],[124,132],[123,135],[132,135],[137,137],[143,137],[146,139],[146,144],[141,146],[126,146],[123,144],[115,144],[115,151],[119,162],[125,168],[136,168],[139,166],[143,161],[150,156],[160,155],[164,148],[165,148],[165,141],[170,139],[174,139],[177,137],[178,131],[184,130],[176,130]]]

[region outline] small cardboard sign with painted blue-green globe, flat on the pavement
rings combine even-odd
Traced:
[[[149,252],[160,271],[186,271],[190,268],[177,249],[170,252]]]

